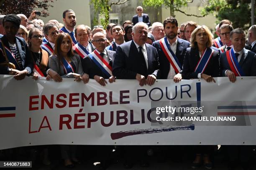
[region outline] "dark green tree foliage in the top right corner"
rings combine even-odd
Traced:
[[[218,23],[227,19],[232,22],[234,28],[246,30],[251,25],[251,0],[209,0],[201,9],[201,14],[209,13],[215,13]]]

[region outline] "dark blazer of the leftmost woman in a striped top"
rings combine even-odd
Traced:
[[[26,41],[21,38],[21,37],[16,37],[16,45],[18,47],[18,52],[20,54],[20,58],[21,58],[21,62],[22,62],[22,68],[16,68],[17,70],[28,70],[29,73],[31,73],[33,71],[33,60],[31,58],[31,53],[28,49],[28,45],[26,43]],[[3,44],[5,45],[5,47],[8,47],[10,49],[7,37],[4,35],[3,37],[0,38],[3,42]],[[0,63],[5,62],[5,56],[3,54],[3,52],[0,52]],[[4,67],[0,67],[0,74],[9,74],[9,67],[8,66],[4,66]]]

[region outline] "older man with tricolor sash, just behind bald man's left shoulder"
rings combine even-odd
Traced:
[[[75,29],[75,37],[78,42],[73,46],[73,50],[81,58],[86,57],[94,50],[92,43],[89,41],[90,31],[88,27],[87,25],[78,25]]]

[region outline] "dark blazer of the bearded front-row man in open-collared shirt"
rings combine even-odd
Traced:
[[[156,47],[157,53],[159,55],[159,63],[160,63],[160,70],[161,70],[161,76],[160,79],[166,79],[168,76],[168,73],[170,71],[170,62],[169,60],[166,58],[159,40],[153,42],[153,47]],[[176,57],[179,60],[179,63],[181,65],[183,65],[183,61],[184,61],[184,55],[186,53],[187,48],[189,47],[190,43],[186,40],[182,40],[180,38],[177,37],[177,48],[176,48]]]

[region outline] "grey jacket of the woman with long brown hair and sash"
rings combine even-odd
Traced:
[[[79,75],[83,75],[84,72],[83,72],[83,67],[82,67],[82,63],[80,60],[80,56],[75,54],[74,56],[70,57],[70,59],[77,68],[75,73],[77,73]],[[64,67],[62,64],[60,64],[56,55],[51,55],[49,57],[48,66],[50,69],[56,71],[63,78],[74,78],[72,72],[65,74]]]

